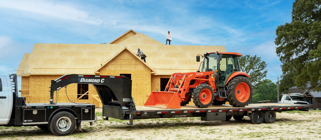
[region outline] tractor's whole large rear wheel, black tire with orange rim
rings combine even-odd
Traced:
[[[252,84],[246,77],[234,77],[227,86],[227,98],[233,107],[244,107],[252,100]]]

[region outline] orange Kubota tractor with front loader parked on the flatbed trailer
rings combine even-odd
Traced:
[[[191,98],[200,108],[230,102],[234,107],[244,107],[252,99],[252,85],[248,74],[240,72],[237,52],[212,52],[196,56],[200,62],[197,72],[174,73],[170,76],[165,91],[152,91],[145,106],[159,108],[181,108]],[[202,64],[203,63],[203,64]],[[206,63],[206,64],[205,64]]]

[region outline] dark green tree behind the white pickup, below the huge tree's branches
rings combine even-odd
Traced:
[[[289,88],[296,86],[295,82],[293,82],[293,77],[294,73],[286,73],[281,75],[279,85],[280,94],[282,94],[283,91],[289,93]]]

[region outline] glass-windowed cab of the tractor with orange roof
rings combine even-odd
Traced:
[[[242,54],[236,52],[216,51],[205,53],[204,56],[202,56],[204,60],[200,64],[200,66],[202,65],[202,72],[214,71],[215,84],[225,86],[230,75],[236,71],[240,71],[239,56],[242,56]],[[200,56],[197,56],[197,62],[200,61],[199,59]],[[218,79],[218,81],[216,79]]]

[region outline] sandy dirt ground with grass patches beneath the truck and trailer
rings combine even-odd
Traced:
[[[101,109],[96,109],[99,121],[90,126],[82,123],[82,131],[69,136],[54,136],[37,127],[0,127],[0,139],[9,140],[226,140],[226,139],[275,139],[320,140],[321,111],[290,111],[276,113],[273,124],[257,124],[248,117],[242,121],[201,121],[200,117],[134,120],[102,120]]]

